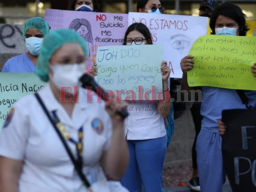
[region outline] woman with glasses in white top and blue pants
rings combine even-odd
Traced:
[[[145,24],[131,24],[124,36],[123,45],[152,45],[151,34]],[[161,63],[163,90],[168,90],[170,68],[166,61]],[[164,118],[171,108],[169,91],[166,102],[129,102],[129,117],[125,120],[126,139],[130,159],[121,183],[130,192],[161,192],[162,170],[167,144]],[[164,98],[165,100],[165,98]],[[138,107],[156,110],[136,111]],[[160,110],[160,108],[167,110]]]

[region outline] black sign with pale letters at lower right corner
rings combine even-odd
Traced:
[[[256,109],[222,111],[223,164],[232,192],[256,192]]]

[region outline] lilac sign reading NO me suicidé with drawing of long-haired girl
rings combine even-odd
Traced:
[[[51,30],[73,29],[86,41],[89,54],[87,70],[91,69],[99,46],[122,45],[128,27],[128,14],[102,12],[76,12],[47,9],[44,19]]]

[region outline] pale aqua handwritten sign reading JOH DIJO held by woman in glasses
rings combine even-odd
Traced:
[[[96,82],[121,100],[161,99],[163,46],[99,47]]]

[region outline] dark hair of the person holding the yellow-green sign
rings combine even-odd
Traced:
[[[241,8],[232,2],[222,3],[212,12],[210,18],[210,28],[212,30],[211,34],[215,34],[215,23],[219,15],[223,15],[236,21],[240,29],[239,36],[246,36],[247,31],[250,29],[245,22],[245,18],[247,17]]]

